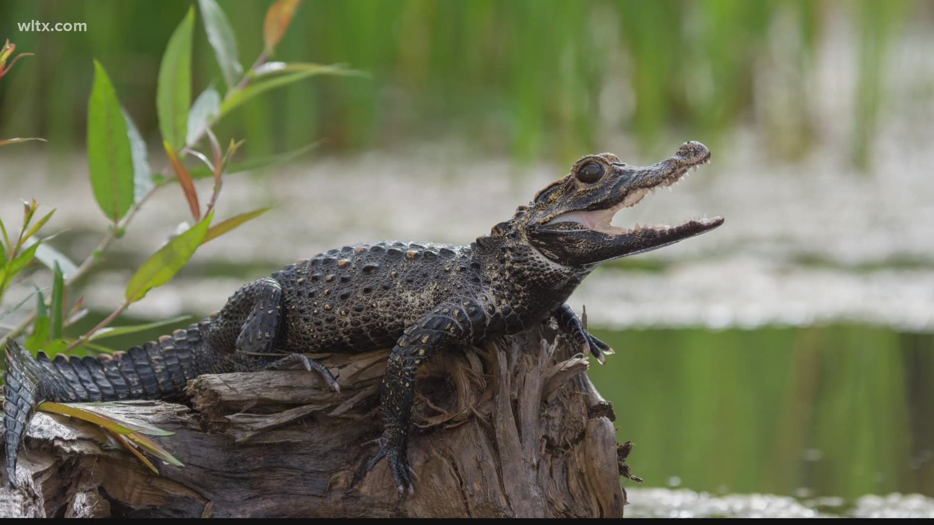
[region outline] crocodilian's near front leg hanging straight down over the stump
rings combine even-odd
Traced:
[[[416,371],[438,350],[469,344],[476,328],[486,319],[483,307],[476,301],[439,305],[431,314],[408,326],[392,348],[380,400],[383,435],[379,438],[379,452],[367,470],[387,458],[400,493],[414,490],[406,445]]]

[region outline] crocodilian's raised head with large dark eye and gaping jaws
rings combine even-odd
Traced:
[[[616,155],[587,155],[571,173],[520,208],[513,226],[548,259],[587,266],[676,243],[713,230],[723,218],[688,220],[680,226],[611,226],[616,212],[639,204],[661,186],[671,186],[691,168],[710,162],[710,150],[686,142],[670,159],[650,166],[621,163]],[[495,229],[494,229],[495,234]]]

